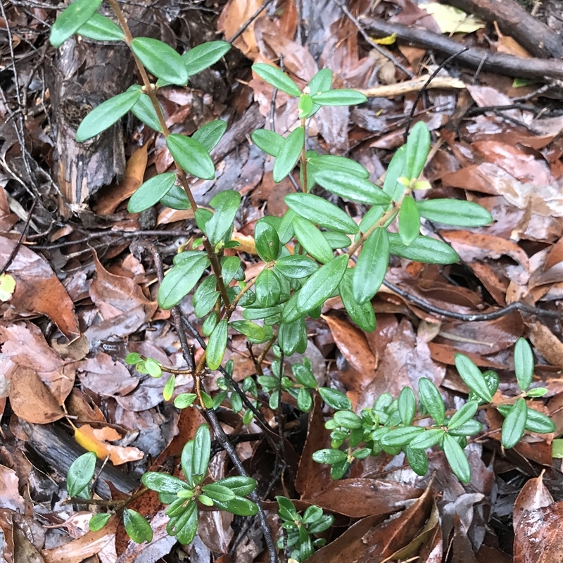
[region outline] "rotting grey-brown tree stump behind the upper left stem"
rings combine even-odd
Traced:
[[[134,36],[155,37],[160,32],[151,0],[126,9]],[[125,173],[121,120],[85,143],[76,141],[76,130],[92,108],[132,84],[134,69],[132,54],[122,42],[94,42],[75,35],[56,51],[49,75],[54,170],[70,208],[80,208],[101,186],[119,180]],[[67,216],[68,208],[59,207]]]

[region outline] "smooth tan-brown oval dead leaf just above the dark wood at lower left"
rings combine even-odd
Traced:
[[[54,422],[65,415],[37,372],[20,365],[12,372],[10,404],[18,417],[34,424]]]

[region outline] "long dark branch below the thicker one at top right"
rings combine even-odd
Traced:
[[[407,27],[395,23],[364,17],[360,20],[365,28],[371,30],[377,37],[388,37],[397,34],[397,40],[422,49],[430,49],[444,55],[459,53],[463,45],[419,27]],[[498,72],[500,75],[520,78],[555,78],[563,79],[563,61],[543,58],[519,58],[503,53],[493,53],[487,49],[472,47],[460,53],[452,64],[483,68]]]

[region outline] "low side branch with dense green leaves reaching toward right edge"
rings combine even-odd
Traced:
[[[331,430],[331,448],[315,452],[313,459],[329,464],[333,479],[340,479],[354,460],[381,452],[391,455],[403,452],[412,470],[424,475],[428,471],[426,450],[437,445],[458,479],[469,483],[471,471],[463,450],[468,438],[482,430],[481,422],[475,419],[481,405],[496,408],[505,417],[501,434],[505,448],[517,445],[526,430],[540,434],[555,431],[555,424],[549,417],[526,403],[526,398],[536,398],[547,391],[530,388],[533,355],[529,343],[518,339],[514,351],[521,396],[510,403],[491,404],[498,388],[497,374],[491,371],[483,374],[467,356],[457,354],[455,365],[469,388],[469,398],[453,414],[445,411],[443,398],[434,383],[422,377],[419,379],[418,407],[415,393],[405,387],[398,399],[393,400],[391,395],[384,393],[372,408],[362,410],[360,415],[350,409],[335,412],[325,424]],[[340,449],[342,445],[346,445],[346,451]]]

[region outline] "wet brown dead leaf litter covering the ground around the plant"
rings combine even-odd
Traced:
[[[551,441],[563,431],[563,117],[556,107],[560,92],[550,82],[545,82],[543,90],[540,84],[517,88],[491,70],[475,74],[453,64],[437,77],[444,80],[443,87],[427,89],[418,99],[417,88],[429,77],[432,65],[436,68],[431,52],[395,39],[374,51],[339,4],[327,1],[321,7],[310,1],[286,0],[279,9],[266,6],[253,18],[261,2],[229,0],[220,2],[213,23],[206,20],[199,30],[186,23],[189,12],[184,7],[170,16],[177,19],[163,31],[165,40],[175,35],[182,42],[191,40],[192,45],[203,42],[205,33],[234,37],[250,21],[234,41],[238,51],[228,61],[229,72],[224,67],[213,71],[213,80],[208,75],[208,82],[194,90],[165,89],[160,99],[175,133],[191,134],[204,122],[220,117],[243,124],[239,137],[232,134],[230,150],[214,153],[219,155],[215,181],[193,182],[198,201],[205,205],[215,193],[232,186],[246,197],[234,234],[246,246],[226,255],[241,258],[247,279],[258,274],[260,265],[255,248],[248,246],[248,235],[263,215],[283,215],[283,195],[291,193],[293,186],[289,181],[274,184],[272,160],[248,146],[246,139],[269,119],[272,110],[280,134],[290,132],[298,122],[296,101],[278,92],[272,108],[272,87],[251,75],[248,61],[283,65],[300,86],[319,68],[331,68],[337,87],[367,92],[369,101],[361,108],[324,107],[311,120],[308,142],[322,153],[355,158],[376,182],[382,179],[393,149],[403,143],[412,110],[415,121],[424,120],[438,139],[425,169],[426,178],[434,184],[433,193],[480,203],[495,222],[464,230],[423,222],[425,234],[434,233],[450,243],[461,262],[437,267],[394,258],[387,286],[372,300],[376,330],[364,333],[344,314],[339,298],[331,299],[322,317],[308,326],[305,356],[314,364],[317,381],[345,392],[358,413],[381,393],[396,397],[405,385],[417,388],[420,377],[434,381],[446,406],[455,407],[460,395],[467,393],[453,369],[455,353],[460,351],[477,365],[498,370],[501,383],[494,401],[499,404],[519,392],[513,383],[510,350],[520,336],[526,336],[533,345],[533,385],[548,388],[543,408],[538,401],[534,408],[554,417],[557,433],[526,435],[517,448],[505,452],[500,445],[502,419],[487,412],[482,420],[488,430],[468,448],[473,475],[469,488],[452,476],[440,453],[431,453],[430,472],[424,478],[416,476],[400,456],[382,454],[356,461],[346,479],[332,481],[327,467],[311,459],[315,450],[330,443],[324,428],[326,413],[316,396],[308,416],[286,431],[287,461],[293,474],[286,474],[280,484],[270,480],[273,458],[264,429],[257,424],[244,429],[241,416],[229,411],[221,414],[221,422],[227,434],[235,437],[260,435],[253,445],[241,442],[237,448],[255,475],[260,475],[261,486],[270,491],[285,487],[300,510],[316,504],[336,517],[327,532],[327,546],[308,559],[312,563],[412,557],[438,562],[447,554],[448,560],[460,561],[512,557],[515,562],[557,561],[562,545],[557,526],[563,510],[562,468],[560,460],[551,457]],[[351,2],[350,9],[358,15],[367,9],[364,4]],[[435,33],[455,33],[458,41],[486,49],[493,34],[497,39],[492,44],[499,52],[526,56],[496,23],[466,17],[452,6],[442,5],[439,10],[436,6],[441,5],[391,0],[375,3],[369,15],[400,25],[416,23]],[[47,33],[44,21],[51,21],[53,15],[34,5],[27,11],[8,6],[3,25],[13,30],[20,76],[31,77],[34,64],[45,64],[37,58],[36,47]],[[554,20],[547,21],[553,25]],[[413,76],[405,75],[401,66]],[[411,79],[419,78],[419,85],[413,86]],[[0,305],[4,559],[172,560],[166,558],[179,548],[165,533],[167,519],[156,495],[146,495],[134,506],[151,520],[151,547],[129,542],[116,519],[101,531],[87,531],[73,519],[89,518],[95,507],[80,511],[61,505],[65,472],[34,455],[34,444],[26,443],[20,426],[63,429],[69,443],[87,445],[101,459],[109,456],[109,464],[124,467],[134,478],[160,467],[194,437],[203,422],[201,415],[190,409],[178,413],[172,405],[179,393],[193,391],[191,377],[177,376],[174,395],[165,403],[162,391],[170,374],[153,379],[125,365],[127,353],[136,351],[172,369],[186,368],[169,315],[156,303],[153,262],[141,258],[131,242],[132,236],[158,236],[159,251],[170,263],[196,237],[194,216],[191,211],[170,213],[162,206],[153,216],[127,213],[125,202],[134,189],[172,164],[163,137],[136,125],[127,134],[127,168],[122,179],[104,186],[61,223],[58,213],[65,203],[53,187],[56,184],[47,182],[40,194],[30,198],[15,181],[25,167],[13,125],[6,120],[15,107],[13,82],[8,79],[6,84],[6,100],[0,101],[5,122],[0,126],[4,139],[0,266],[7,265],[2,271]],[[51,170],[53,132],[44,125],[50,102],[41,78],[26,84],[27,158],[32,159],[34,170],[41,163],[39,177],[45,182],[49,175],[56,177]],[[232,96],[227,99],[222,92],[229,88]],[[546,91],[548,96],[543,95]],[[250,115],[251,125],[244,121],[245,115]],[[347,210],[358,220],[363,212],[350,203]],[[20,243],[26,223],[29,230]],[[518,301],[558,312],[559,319],[524,310],[486,318],[487,312]],[[191,297],[181,308],[186,319],[198,326]],[[464,320],[472,315],[485,317]],[[226,359],[234,360],[234,378],[241,381],[255,370],[243,340],[231,336]],[[201,354],[197,339],[190,337],[189,343]],[[267,355],[265,365],[272,360]],[[215,379],[208,382],[212,393],[219,389]],[[267,405],[261,412],[267,421],[274,420],[275,413]],[[211,468],[217,479],[232,471],[221,453],[213,457]],[[265,499],[274,527],[272,500],[277,493]],[[114,500],[119,494],[115,489]],[[66,532],[49,523],[65,523]],[[224,512],[206,512],[196,543],[184,551],[194,561],[209,561],[212,553],[213,560],[221,562],[264,560],[260,533],[253,536],[251,531],[242,540],[236,519]]]

